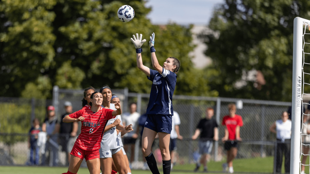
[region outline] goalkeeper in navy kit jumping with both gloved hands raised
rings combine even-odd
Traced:
[[[172,95],[175,90],[177,78],[176,73],[180,69],[180,61],[174,57],[169,57],[163,63],[163,66],[161,66],[155,55],[155,34],[152,33],[152,36],[150,36],[149,46],[152,64],[155,70],[144,66],[141,57],[141,46],[146,40],[142,40],[142,34],[140,34],[139,37],[137,33],[136,36],[137,38],[133,35],[131,41],[134,43],[136,48],[137,66],[142,72],[144,72],[144,74],[147,75],[148,80],[153,82],[150,99],[146,110],[148,117],[142,134],[142,153],[144,154],[151,172],[153,174],[159,174],[155,157],[151,151],[153,141],[158,133],[159,148],[163,159],[163,173],[170,174],[171,158],[169,143],[173,115]]]

